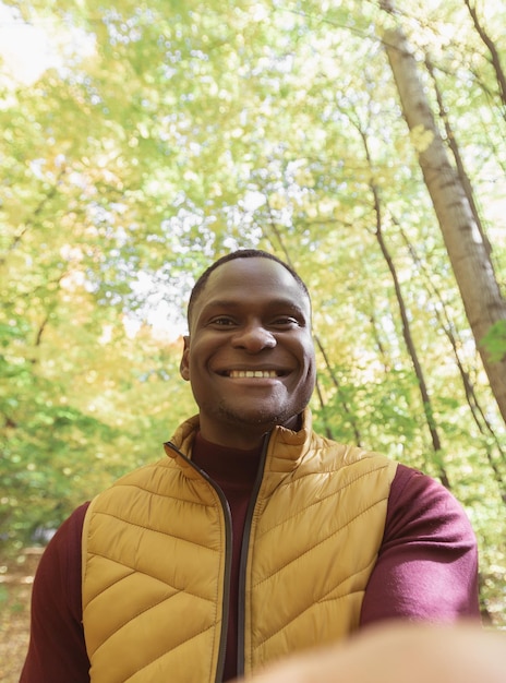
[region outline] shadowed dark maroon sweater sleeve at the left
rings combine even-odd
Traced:
[[[89,683],[81,603],[81,536],[87,506],[72,513],[40,558],[20,683]]]

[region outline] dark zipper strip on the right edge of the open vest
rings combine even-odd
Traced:
[[[244,675],[244,650],[245,650],[245,592],[246,592],[246,566],[248,555],[250,551],[250,536],[251,526],[253,522],[253,513],[256,507],[256,500],[258,498],[260,488],[264,480],[264,467],[267,456],[267,446],[269,442],[270,433],[266,434],[264,440],[264,446],[262,450],[262,456],[258,465],[258,474],[256,475],[255,483],[251,494],[250,503],[248,505],[246,517],[244,520],[244,534],[242,535],[241,542],[241,559],[239,563],[239,591],[238,591],[238,659],[237,659],[237,675],[241,678]]]

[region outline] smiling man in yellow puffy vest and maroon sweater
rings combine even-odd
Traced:
[[[21,683],[206,683],[398,618],[478,616],[455,499],[311,429],[305,285],[268,253],[213,264],[181,375],[198,416],[168,457],[73,513],[33,592]]]

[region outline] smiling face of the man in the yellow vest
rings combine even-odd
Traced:
[[[276,424],[297,427],[315,362],[311,304],[292,275],[262,257],[214,271],[193,308],[181,375],[208,441],[254,447]]]

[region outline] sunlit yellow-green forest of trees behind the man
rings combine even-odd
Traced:
[[[313,295],[316,428],[451,490],[506,627],[504,26],[485,0],[0,3],[0,560],[161,455],[195,412],[195,276],[257,247]]]

